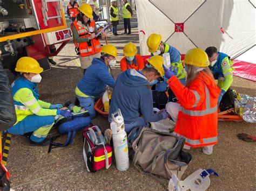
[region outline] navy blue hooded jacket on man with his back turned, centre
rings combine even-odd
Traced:
[[[109,122],[111,114],[117,109],[121,110],[125,124],[135,122],[139,117],[139,110],[146,122],[163,119],[161,114],[153,113],[153,96],[149,81],[135,69],[127,69],[117,78],[111,98]]]

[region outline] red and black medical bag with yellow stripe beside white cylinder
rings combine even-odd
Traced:
[[[112,162],[112,147],[102,135],[99,127],[90,126],[83,130],[83,156],[88,172],[108,169]]]

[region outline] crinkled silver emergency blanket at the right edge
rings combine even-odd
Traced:
[[[256,123],[256,97],[238,94],[235,99],[235,113],[246,122]]]

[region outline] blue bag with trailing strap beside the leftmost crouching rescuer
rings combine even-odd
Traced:
[[[73,113],[71,119],[67,119],[63,116],[59,117],[55,122],[55,126],[60,133],[60,135],[68,134],[65,143],[55,143],[53,142],[56,138],[60,137],[60,135],[52,138],[52,142],[49,145],[48,153],[51,152],[52,148],[56,148],[59,146],[69,146],[73,143],[73,140],[76,136],[76,131],[85,128],[86,126],[91,124],[91,117],[89,111],[81,111],[76,114]]]

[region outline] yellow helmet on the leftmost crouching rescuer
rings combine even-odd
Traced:
[[[42,73],[43,70],[44,69],[39,66],[38,61],[28,56],[24,56],[18,59],[16,68],[15,68],[16,72],[33,73],[33,74]]]

